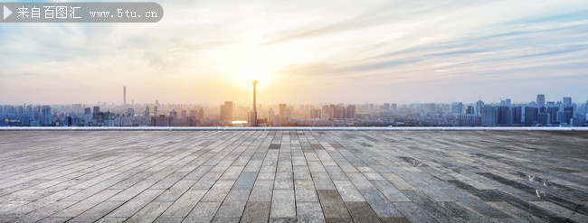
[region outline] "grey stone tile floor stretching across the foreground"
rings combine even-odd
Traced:
[[[588,133],[0,132],[0,222],[588,222]]]

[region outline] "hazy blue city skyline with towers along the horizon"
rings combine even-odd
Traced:
[[[255,86],[257,80],[252,83]],[[409,104],[256,104],[254,95],[254,106],[233,101],[211,106],[158,100],[128,103],[126,90],[120,104],[0,105],[0,126],[585,126],[588,119],[588,100],[549,100],[545,94],[523,103],[479,98],[465,103]]]

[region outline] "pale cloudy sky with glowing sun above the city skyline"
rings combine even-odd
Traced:
[[[581,1],[155,1],[158,23],[0,23],[0,104],[588,100]]]

